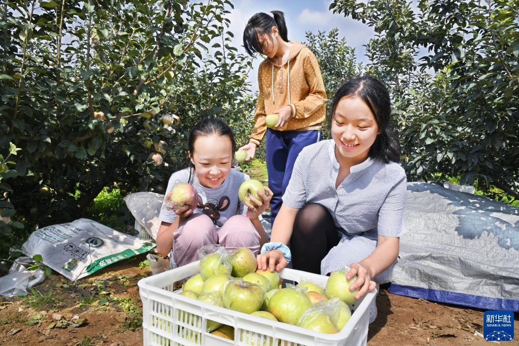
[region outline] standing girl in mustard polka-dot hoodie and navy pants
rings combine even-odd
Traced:
[[[254,130],[241,149],[251,160],[266,132],[268,187],[274,193],[270,222],[274,224],[297,155],[321,139],[326,92],[316,57],[306,46],[288,40],[283,12],[252,16],[243,32],[243,45],[251,56],[256,52],[266,56],[258,71]],[[278,114],[279,120],[267,130],[268,114]]]

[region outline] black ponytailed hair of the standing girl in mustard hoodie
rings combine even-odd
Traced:
[[[245,30],[243,31],[243,47],[250,56],[254,53],[263,54],[258,35],[269,35],[272,32],[272,26],[278,28],[281,38],[288,42],[288,31],[286,30],[285,16],[281,11],[271,11],[273,17],[269,13],[259,12],[249,19]]]

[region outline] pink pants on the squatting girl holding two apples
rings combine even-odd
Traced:
[[[192,214],[173,233],[173,258],[176,265],[180,267],[198,260],[199,248],[209,244],[220,244],[227,251],[245,246],[257,255],[260,251],[260,234],[247,216],[230,217],[216,232],[209,216]]]

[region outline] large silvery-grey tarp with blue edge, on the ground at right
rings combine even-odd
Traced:
[[[408,183],[390,292],[519,310],[519,209],[440,185]]]

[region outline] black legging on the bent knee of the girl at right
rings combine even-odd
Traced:
[[[290,238],[293,268],[320,274],[322,259],[338,242],[328,210],[318,203],[306,204],[297,212]]]

